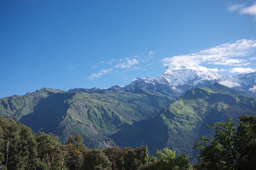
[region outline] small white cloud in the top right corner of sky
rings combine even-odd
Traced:
[[[237,11],[239,14],[249,14],[256,18],[256,4],[253,4],[252,6],[249,6],[249,7],[245,7],[244,4],[230,5],[228,7],[228,11],[230,12]]]

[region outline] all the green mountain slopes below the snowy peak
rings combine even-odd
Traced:
[[[89,148],[148,145],[154,154],[167,146],[190,155],[196,154],[192,148],[198,136],[209,133],[206,125],[228,117],[236,120],[240,114],[256,115],[255,98],[219,84],[190,89],[172,102],[143,89],[68,93],[43,88],[0,99],[0,115],[34,132],[52,132],[61,142],[70,134],[81,134]]]

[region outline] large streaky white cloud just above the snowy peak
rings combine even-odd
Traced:
[[[216,47],[211,47],[209,49],[201,50],[195,53],[164,58],[162,59],[162,62],[164,66],[170,67],[184,65],[184,62],[186,61],[193,61],[198,65],[207,63],[239,67],[250,64],[247,60],[244,59],[244,57],[248,54],[251,54],[255,48],[256,40],[242,39],[237,40],[234,43],[223,43]],[[253,71],[252,69],[247,69],[247,71],[249,70]],[[231,72],[235,71],[236,69],[231,70]]]

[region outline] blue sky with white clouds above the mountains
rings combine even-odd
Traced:
[[[109,88],[190,59],[256,71],[255,0],[1,0],[0,98]]]

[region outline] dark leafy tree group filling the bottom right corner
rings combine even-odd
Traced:
[[[240,116],[238,127],[231,119],[213,123],[214,139],[200,137],[195,148],[200,150],[198,169],[233,170],[255,169],[256,116]]]

